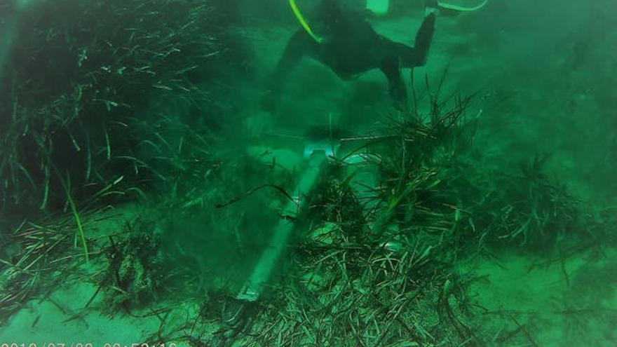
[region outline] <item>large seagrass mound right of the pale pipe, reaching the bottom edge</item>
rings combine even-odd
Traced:
[[[367,137],[361,154],[377,169],[375,186],[350,184],[360,179],[351,165],[320,186],[311,204],[320,220],[305,223],[308,231],[290,247],[292,271],[241,343],[481,343],[469,316],[470,280],[454,272],[473,243],[456,189],[459,156],[473,135],[473,122],[463,120],[469,101],[454,100],[451,109],[433,104],[430,116],[395,118]]]

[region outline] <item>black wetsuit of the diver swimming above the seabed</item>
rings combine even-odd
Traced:
[[[435,15],[424,18],[414,47],[410,47],[377,34],[364,16],[342,8],[336,0],[322,0],[316,14],[311,27],[323,41],[318,43],[304,29],[292,36],[276,67],[269,100],[278,96],[287,74],[301,57],[308,56],[327,65],[344,80],[371,69],[381,69],[388,79],[395,107],[405,107],[407,93],[401,69],[419,67],[426,62]]]

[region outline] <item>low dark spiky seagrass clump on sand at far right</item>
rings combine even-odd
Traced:
[[[536,155],[513,175],[502,174],[499,190],[475,207],[477,221],[493,245],[516,243],[528,250],[590,247],[606,233],[588,206],[565,184],[545,173],[550,156]]]

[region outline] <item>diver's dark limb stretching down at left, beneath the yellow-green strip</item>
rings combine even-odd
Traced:
[[[271,110],[276,104],[280,90],[283,88],[287,75],[290,74],[292,69],[298,64],[304,55],[314,55],[316,42],[311,39],[304,31],[298,31],[292,36],[283,56],[276,65],[276,70],[272,76],[270,82],[269,93],[264,97],[263,106],[264,109]]]

